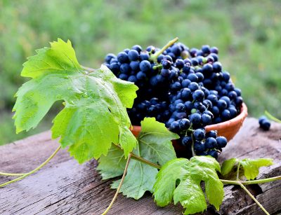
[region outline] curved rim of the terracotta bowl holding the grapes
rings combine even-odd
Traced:
[[[223,129],[226,128],[230,125],[237,125],[237,124],[242,124],[244,119],[248,116],[248,109],[246,104],[244,104],[244,102],[241,105],[241,109],[240,109],[240,114],[235,116],[235,118],[232,118],[231,120],[227,120],[223,123],[216,123],[213,125],[207,125],[205,127],[206,132],[209,132],[210,130],[219,130],[219,129]],[[132,125],[131,127],[131,131],[135,134],[138,134],[139,132],[141,132],[141,125]]]

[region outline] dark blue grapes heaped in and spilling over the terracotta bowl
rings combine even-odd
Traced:
[[[241,90],[218,62],[218,48],[189,49],[176,40],[162,49],[136,45],[117,56],[108,54],[105,65],[118,78],[138,85],[138,97],[128,109],[133,125],[155,117],[179,134],[181,156],[218,158],[227,140],[204,127],[235,118],[243,102]]]

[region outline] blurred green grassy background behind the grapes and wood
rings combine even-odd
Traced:
[[[22,63],[58,37],[70,39],[79,62],[94,68],[107,53],[161,47],[176,36],[190,48],[217,46],[249,114],[267,109],[281,118],[280,11],[279,0],[0,0],[0,145],[51,127],[48,116],[37,129],[15,134],[11,109],[27,81]]]

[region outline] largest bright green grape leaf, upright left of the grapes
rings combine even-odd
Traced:
[[[16,93],[13,111],[17,132],[37,126],[54,102],[65,107],[53,120],[52,137],[69,146],[79,163],[106,155],[112,142],[125,156],[136,146],[126,108],[133,105],[138,87],[115,77],[107,67],[91,73],[77,62],[71,42],[61,39],[37,50],[23,64],[30,77]]]

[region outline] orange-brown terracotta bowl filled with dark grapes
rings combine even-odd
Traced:
[[[243,103],[241,106],[241,112],[238,116],[223,123],[207,125],[205,130],[206,132],[209,132],[210,130],[217,130],[218,136],[226,137],[226,139],[230,141],[230,139],[233,139],[235,134],[237,134],[237,132],[240,130],[240,127],[242,126],[242,123],[247,115],[247,106]],[[133,125],[132,132],[133,135],[138,136],[138,134],[141,132],[141,126]]]

